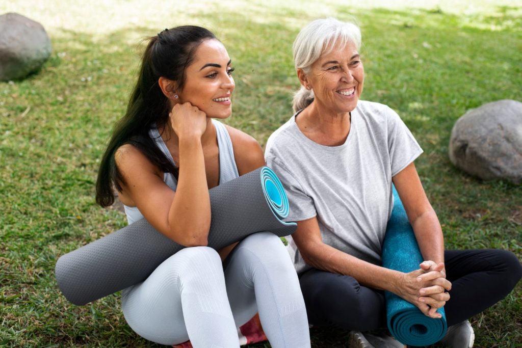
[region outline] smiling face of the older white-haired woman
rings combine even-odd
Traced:
[[[357,106],[364,83],[364,68],[352,42],[337,43],[323,54],[306,74],[304,86],[311,87],[314,103],[332,113],[351,112]]]

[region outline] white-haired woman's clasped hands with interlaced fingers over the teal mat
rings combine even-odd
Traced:
[[[403,273],[399,289],[400,297],[416,305],[424,315],[430,318],[441,318],[437,309],[449,300],[452,283],[446,279],[444,263],[423,261],[420,269]]]

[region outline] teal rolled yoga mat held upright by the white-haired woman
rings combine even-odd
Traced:
[[[383,244],[383,266],[411,272],[419,269],[424,260],[395,187],[393,195],[394,207]],[[391,292],[386,291],[385,297],[388,329],[401,343],[413,346],[430,345],[440,341],[446,334],[444,307],[437,310],[442,318],[434,319],[425,316],[415,305]]]

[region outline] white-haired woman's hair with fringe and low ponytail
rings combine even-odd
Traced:
[[[330,53],[337,43],[355,44],[359,51],[361,47],[361,30],[351,22],[341,22],[335,18],[316,19],[306,25],[293,43],[293,58],[295,69],[302,69],[305,74],[319,57]],[[314,92],[304,86],[295,92],[292,101],[294,112],[304,109],[314,100]]]

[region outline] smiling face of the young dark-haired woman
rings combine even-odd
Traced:
[[[235,88],[227,50],[215,39],[203,41],[185,70],[185,85],[177,90],[179,102],[190,102],[207,117],[227,118],[232,113]]]

